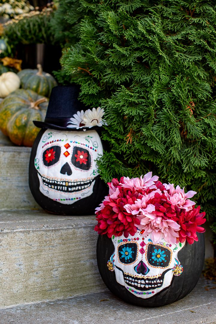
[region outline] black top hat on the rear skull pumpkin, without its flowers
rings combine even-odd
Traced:
[[[35,126],[63,131],[84,131],[88,129],[87,127],[79,129],[68,127],[71,118],[77,111],[85,111],[89,108],[78,100],[79,91],[79,86],[57,86],[52,88],[46,117],[44,121],[33,121]],[[99,127],[94,126],[90,129],[97,128]]]

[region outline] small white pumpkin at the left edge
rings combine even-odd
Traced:
[[[9,93],[20,87],[20,78],[14,72],[6,72],[0,75],[0,97],[5,98]]]

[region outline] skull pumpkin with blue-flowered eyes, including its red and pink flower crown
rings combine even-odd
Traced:
[[[205,213],[189,200],[194,194],[162,184],[151,172],[109,183],[95,230],[99,272],[112,293],[159,307],[195,287],[204,263]]]

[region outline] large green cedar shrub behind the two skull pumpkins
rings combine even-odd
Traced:
[[[215,1],[76,5],[76,14],[83,15],[80,39],[62,64],[81,86],[81,100],[105,109],[103,138],[110,151],[98,161],[102,178],[151,170],[161,181],[197,191],[198,203],[214,217]]]

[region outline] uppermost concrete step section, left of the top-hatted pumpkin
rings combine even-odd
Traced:
[[[0,209],[40,209],[28,187],[30,147],[0,146]]]

